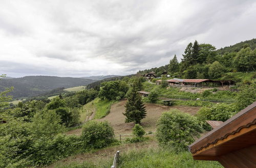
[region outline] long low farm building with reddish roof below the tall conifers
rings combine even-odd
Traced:
[[[233,80],[211,80],[211,79],[179,79],[173,78],[167,80],[169,86],[178,87],[225,87],[230,88],[235,82]]]

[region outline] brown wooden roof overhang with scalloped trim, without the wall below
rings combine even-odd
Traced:
[[[196,160],[218,156],[256,145],[256,101],[217,128],[189,145]]]

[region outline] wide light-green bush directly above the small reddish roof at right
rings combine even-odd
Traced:
[[[198,111],[197,117],[201,121],[214,120],[224,122],[236,113],[236,106],[233,104],[217,103],[211,107],[202,107]]]

